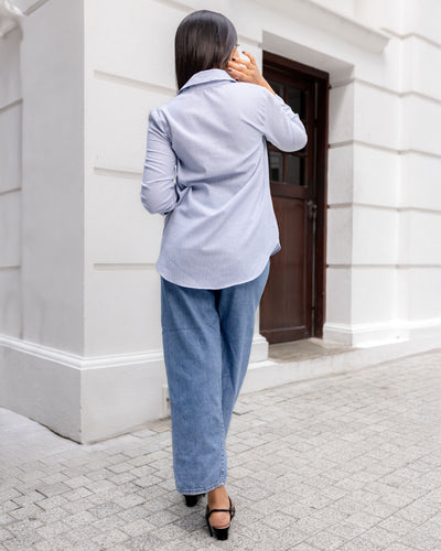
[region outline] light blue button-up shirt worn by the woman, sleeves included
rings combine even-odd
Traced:
[[[308,141],[280,96],[219,68],[194,74],[150,111],[140,196],[165,215],[164,279],[223,289],[257,278],[280,250],[266,139],[282,151]]]

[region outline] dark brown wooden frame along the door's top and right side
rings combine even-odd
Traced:
[[[304,65],[302,63],[289,60],[271,52],[262,51],[262,75],[265,77],[265,67],[276,69],[293,71],[301,78],[310,78],[315,83],[316,102],[315,102],[315,125],[316,125],[316,151],[323,152],[315,160],[315,249],[314,259],[314,280],[312,281],[312,316],[311,324],[313,335],[316,338],[323,337],[323,325],[325,323],[326,304],[326,219],[327,219],[327,150],[329,150],[329,90],[330,76],[327,73]],[[318,108],[320,106],[320,109]],[[312,261],[312,259],[311,259]]]

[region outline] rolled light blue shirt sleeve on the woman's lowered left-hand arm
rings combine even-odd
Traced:
[[[175,187],[176,154],[158,108],[149,115],[147,151],[141,181],[141,203],[151,214],[165,215],[179,201]]]

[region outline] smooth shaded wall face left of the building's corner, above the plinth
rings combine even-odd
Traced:
[[[31,19],[32,18],[32,19]],[[23,23],[23,338],[83,353],[83,2]]]

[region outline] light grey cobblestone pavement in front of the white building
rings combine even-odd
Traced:
[[[441,550],[441,350],[239,397],[229,539],[174,487],[170,420],[94,445],[0,409],[0,548]]]

